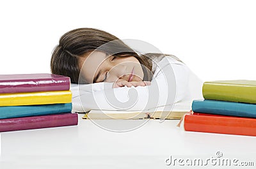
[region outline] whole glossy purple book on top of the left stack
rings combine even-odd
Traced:
[[[0,93],[68,91],[70,78],[49,73],[0,75]]]

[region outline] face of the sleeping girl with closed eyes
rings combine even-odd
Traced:
[[[79,61],[81,74],[89,83],[116,82],[141,82],[143,70],[136,57],[115,57],[104,52],[87,52]]]

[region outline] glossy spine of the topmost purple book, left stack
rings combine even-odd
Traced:
[[[1,80],[0,93],[40,92],[40,91],[68,91],[70,89],[69,77],[36,78],[25,80]]]

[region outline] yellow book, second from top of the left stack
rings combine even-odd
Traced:
[[[0,94],[0,107],[71,103],[71,91],[20,92]]]

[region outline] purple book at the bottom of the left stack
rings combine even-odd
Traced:
[[[77,123],[78,115],[72,113],[0,119],[0,132],[73,126]]]

